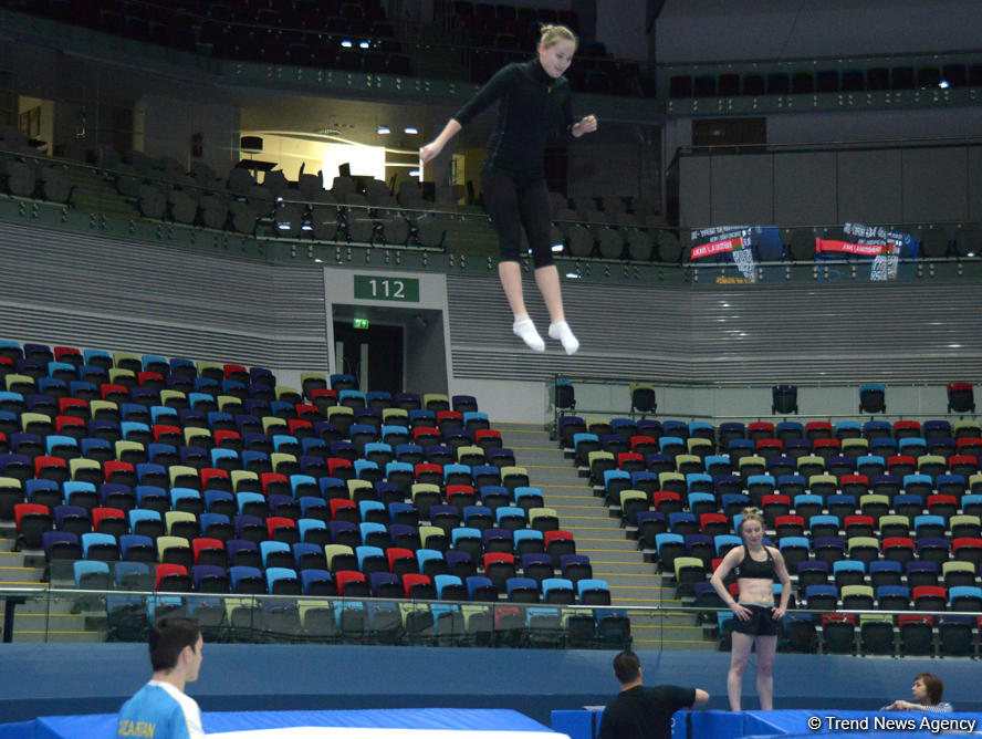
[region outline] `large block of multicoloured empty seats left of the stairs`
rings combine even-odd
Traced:
[[[222,638],[306,638],[311,618],[317,638],[420,643],[494,642],[499,602],[543,604],[539,626],[572,617],[547,606],[610,603],[472,396],[365,394],[316,373],[296,391],[261,367],[2,350],[0,522],[15,548],[43,551],[52,583],[168,593],[109,597],[112,638],[137,638],[136,604],[164,601],[215,605]],[[54,373],[66,382],[42,382]],[[291,599],[251,608],[174,593]],[[324,595],[345,600],[297,601]],[[365,597],[386,602],[353,600]],[[525,607],[506,613],[521,639],[542,637]],[[573,615],[581,638],[583,617],[598,621]]]

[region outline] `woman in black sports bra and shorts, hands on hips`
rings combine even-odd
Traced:
[[[774,708],[774,677],[772,667],[777,652],[777,632],[791,597],[791,579],[784,558],[764,540],[764,520],[756,508],[745,508],[740,522],[743,547],[734,547],[712,573],[710,582],[733,612],[733,646],[730,652],[730,672],[727,674],[727,694],[730,709],[740,710],[743,693],[743,672],[756,643],[756,685],[761,709]],[[725,577],[736,575],[739,596],[730,593]],[[774,581],[780,582],[781,602],[774,605]]]

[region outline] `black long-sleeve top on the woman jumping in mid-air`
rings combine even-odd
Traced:
[[[565,140],[574,138],[570,82],[551,77],[537,56],[503,66],[453,119],[463,126],[495,101],[498,122],[488,138],[485,168],[540,173],[550,135],[558,128]]]

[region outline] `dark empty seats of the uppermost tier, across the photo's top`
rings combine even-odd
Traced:
[[[415,44],[399,35],[399,19],[389,19],[386,3],[378,0],[177,0],[166,6],[59,0],[21,3],[19,8],[144,43],[220,59],[339,72],[415,74]],[[527,59],[539,40],[541,24],[562,23],[579,32],[579,19],[574,11],[470,0],[438,3],[435,20],[441,24],[448,45],[461,50],[470,81],[478,83],[511,61]],[[828,65],[827,60],[807,60],[771,70],[761,69],[759,63],[752,67],[718,73],[668,70],[660,94],[670,102],[700,97],[892,95],[982,84],[982,64],[954,58],[899,60],[889,66],[882,60],[870,59],[837,66]],[[652,74],[641,71],[633,60],[613,58],[603,40],[582,44],[567,76],[579,92],[649,97],[658,94]]]

